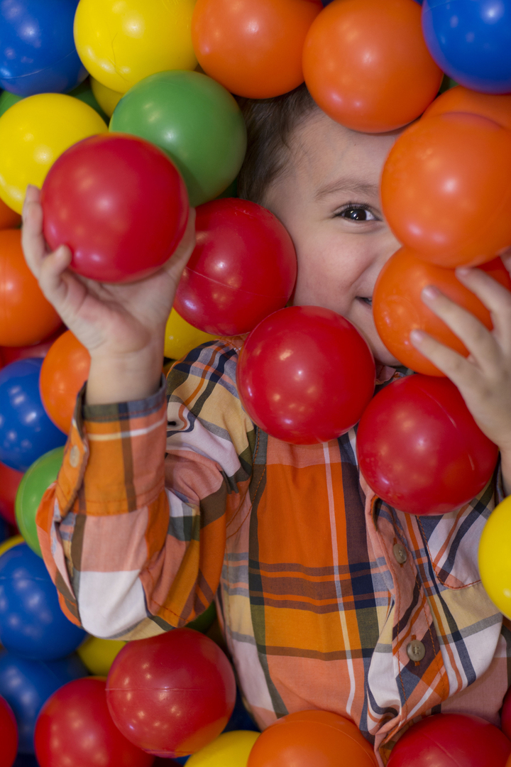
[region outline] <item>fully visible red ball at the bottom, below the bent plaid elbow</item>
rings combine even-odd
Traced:
[[[236,682],[211,639],[175,629],[129,642],[106,681],[113,721],[139,748],[186,756],[218,737],[234,709]]]

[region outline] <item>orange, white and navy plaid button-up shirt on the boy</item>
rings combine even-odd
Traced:
[[[359,475],[355,431],[293,446],[254,426],[237,397],[238,351],[235,341],[192,351],[169,374],[167,403],[163,387],[118,405],[80,395],[37,518],[66,614],[90,634],[136,639],[216,598],[261,728],[334,711],[381,765],[427,713],[498,725],[511,624],[477,570],[497,479],[457,512],[398,512]]]

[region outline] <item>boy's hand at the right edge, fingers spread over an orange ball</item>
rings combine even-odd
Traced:
[[[511,258],[507,259],[507,268]],[[470,351],[465,359],[422,331],[411,342],[464,397],[480,429],[500,448],[503,485],[511,494],[511,293],[480,269],[457,269],[457,277],[491,312],[493,331],[437,288],[424,288],[422,300]]]

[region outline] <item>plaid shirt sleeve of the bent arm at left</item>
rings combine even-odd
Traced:
[[[237,347],[204,344],[146,400],[77,399],[64,462],[41,501],[41,551],[74,623],[104,638],[181,627],[215,597],[226,519],[251,476],[254,425]]]

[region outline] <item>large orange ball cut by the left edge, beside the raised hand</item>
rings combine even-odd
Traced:
[[[0,346],[38,344],[61,318],[44,298],[21,250],[21,230],[0,231]]]

